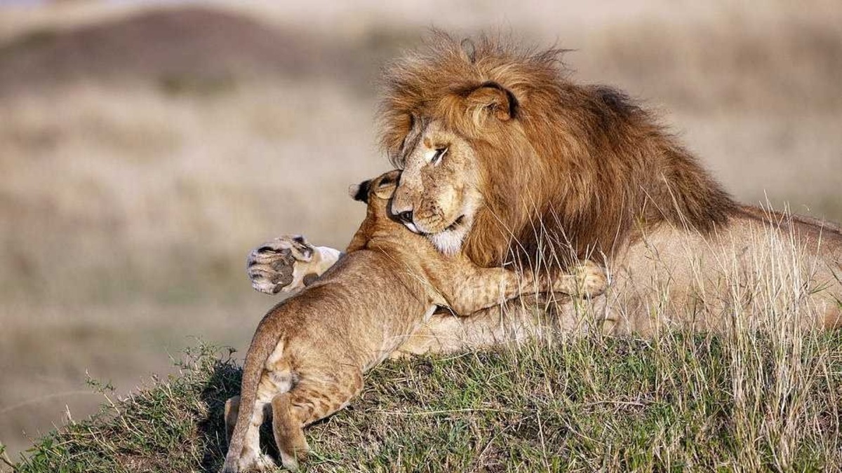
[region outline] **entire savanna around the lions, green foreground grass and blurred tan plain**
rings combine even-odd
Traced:
[[[842,221],[834,2],[3,5],[6,467],[218,470],[275,302],[246,254],[349,241],[346,189],[389,167],[378,73],[429,25],[568,48],[575,80],[658,109],[738,199]],[[727,333],[389,362],[308,429],[306,470],[842,470],[842,334],[792,322],[790,257]]]

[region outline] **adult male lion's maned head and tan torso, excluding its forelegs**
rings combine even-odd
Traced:
[[[721,326],[733,286],[752,284],[770,252],[797,254],[811,311],[839,325],[838,229],[738,205],[653,114],[570,81],[558,56],[486,38],[466,49],[438,33],[395,62],[380,117],[382,145],[404,169],[394,214],[434,242],[470,225],[462,251],[481,266],[605,257],[610,332]],[[431,149],[448,152],[430,162]]]

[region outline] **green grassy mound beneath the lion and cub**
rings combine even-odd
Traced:
[[[388,362],[306,430],[304,470],[839,470],[842,334],[786,339],[571,337]],[[218,470],[240,370],[202,344],[180,366],[40,438],[17,470]]]

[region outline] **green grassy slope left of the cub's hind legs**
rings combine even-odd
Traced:
[[[153,379],[125,399],[35,442],[21,473],[213,470],[224,454],[221,409],[239,391],[231,351],[199,343],[177,360],[179,375]],[[97,389],[107,384],[94,381]]]

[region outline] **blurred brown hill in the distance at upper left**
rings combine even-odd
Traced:
[[[152,79],[177,88],[337,71],[345,81],[367,80],[372,55],[352,49],[224,10],[163,8],[75,29],[36,29],[0,44],[0,93],[67,82]]]

